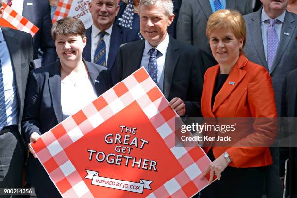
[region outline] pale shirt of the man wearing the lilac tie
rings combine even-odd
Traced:
[[[277,33],[279,42],[281,40],[281,28],[284,21],[284,17],[286,15],[286,11],[284,11],[281,16],[276,17],[277,22],[274,24],[274,29]],[[269,19],[271,19],[262,9],[261,13],[261,33],[262,33],[262,41],[263,41],[263,47],[264,47],[264,53],[267,60],[267,34],[268,34],[268,27],[269,27]]]

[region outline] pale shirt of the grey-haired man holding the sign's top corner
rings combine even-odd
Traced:
[[[157,85],[160,88],[160,90],[163,92],[163,82],[164,82],[164,66],[165,66],[165,58],[167,53],[167,48],[169,44],[169,35],[167,33],[165,39],[156,47],[158,50],[157,54],[157,65],[158,65],[158,73],[157,73]],[[150,57],[150,49],[152,47],[148,41],[145,41],[145,49],[142,54],[141,64],[140,67],[144,67],[146,70],[148,70],[148,61]]]

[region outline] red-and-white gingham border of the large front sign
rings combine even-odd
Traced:
[[[93,197],[63,149],[134,101],[142,108],[184,169],[163,186],[153,189],[148,197],[186,198],[208,185],[207,179],[201,180],[199,176],[210,163],[209,158],[198,144],[195,147],[183,147],[182,142],[177,142],[174,132],[178,115],[142,67],[31,144],[63,197]]]

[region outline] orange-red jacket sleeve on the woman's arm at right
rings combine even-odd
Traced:
[[[255,118],[253,132],[227,149],[236,167],[241,167],[263,153],[267,149],[266,145],[272,144],[276,137],[275,119],[264,119],[277,117],[271,78],[264,67],[255,67],[254,72],[247,86],[248,106],[251,116]]]

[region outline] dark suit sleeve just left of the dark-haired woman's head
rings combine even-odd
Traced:
[[[40,49],[43,51],[42,66],[49,65],[56,61],[57,54],[55,44],[51,38],[52,21],[50,18],[50,6],[47,2],[47,6],[43,12],[42,27],[41,27],[41,39]]]

